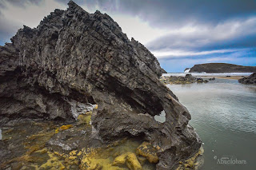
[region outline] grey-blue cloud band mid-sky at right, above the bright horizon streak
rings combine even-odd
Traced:
[[[191,26],[185,33],[166,34],[147,43],[151,50],[186,49],[206,51],[232,48],[254,48],[256,16],[230,19],[215,26]]]

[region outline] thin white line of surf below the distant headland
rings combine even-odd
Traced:
[[[162,77],[170,76],[186,76],[187,73],[163,73]],[[190,73],[194,77],[210,76],[210,77],[226,77],[226,76],[250,76],[252,73]]]

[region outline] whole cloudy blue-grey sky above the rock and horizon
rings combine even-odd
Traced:
[[[68,0],[0,0],[0,45],[23,25],[36,27]],[[255,0],[74,0],[110,15],[146,45],[167,72],[207,62],[256,65]]]

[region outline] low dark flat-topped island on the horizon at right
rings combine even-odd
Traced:
[[[254,73],[256,66],[233,65],[228,63],[206,63],[186,68],[186,73]]]

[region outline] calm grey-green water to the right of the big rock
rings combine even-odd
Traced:
[[[202,169],[256,167],[256,86],[216,79],[207,84],[168,87],[190,111],[190,125],[204,142]],[[223,159],[246,160],[246,164],[225,164]]]

